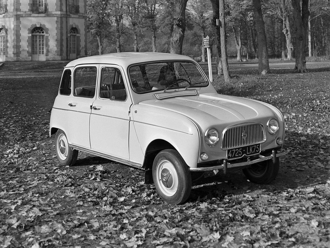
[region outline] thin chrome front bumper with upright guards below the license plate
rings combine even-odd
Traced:
[[[266,161],[266,160],[269,160],[269,159],[273,159],[273,161],[275,163],[277,157],[284,156],[284,155],[288,154],[289,152],[290,152],[290,150],[286,150],[286,151],[283,151],[283,152],[276,153],[276,151],[273,150],[272,155],[262,156],[262,155],[259,154],[259,158],[255,159],[255,160],[252,160],[252,161],[246,161],[246,162],[231,164],[227,161],[227,159],[224,159],[223,164],[221,164],[221,165],[210,166],[210,167],[200,167],[200,168],[191,168],[190,167],[189,170],[190,171],[213,171],[213,170],[223,169],[223,172],[226,173],[227,168],[247,166],[247,165],[250,165],[250,164],[259,163],[259,162]]]

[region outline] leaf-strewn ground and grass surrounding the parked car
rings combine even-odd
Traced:
[[[0,67],[0,247],[329,247],[330,68],[309,69],[215,77],[220,93],[277,106],[291,153],[270,185],[230,172],[173,206],[143,171],[83,152],[61,167],[48,136],[61,69]]]

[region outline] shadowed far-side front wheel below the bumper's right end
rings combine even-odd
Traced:
[[[279,173],[280,160],[277,158],[276,163],[272,159],[252,164],[251,167],[243,169],[244,175],[253,183],[269,184]]]

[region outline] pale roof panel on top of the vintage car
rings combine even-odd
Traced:
[[[69,62],[65,67],[74,67],[80,64],[119,64],[123,67],[127,67],[130,64],[143,63],[149,61],[168,61],[168,60],[189,60],[194,61],[188,56],[179,54],[168,53],[110,53],[103,55],[95,55],[89,57],[83,57]]]

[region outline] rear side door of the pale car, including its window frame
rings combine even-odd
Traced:
[[[80,65],[74,69],[72,97],[68,103],[70,143],[86,148],[90,148],[89,118],[96,98],[97,71],[98,65]]]

